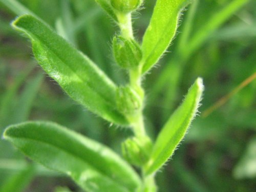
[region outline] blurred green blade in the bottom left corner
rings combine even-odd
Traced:
[[[20,171],[12,175],[11,177],[7,178],[7,180],[0,186],[0,192],[24,191],[24,189],[32,180],[34,172],[35,171],[33,165],[27,166],[25,170]]]

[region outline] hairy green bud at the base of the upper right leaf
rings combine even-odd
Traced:
[[[139,44],[133,39],[121,36],[113,39],[113,53],[117,64],[126,69],[137,67],[142,58]]]

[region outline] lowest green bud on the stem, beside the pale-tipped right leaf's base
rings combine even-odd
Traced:
[[[150,138],[131,137],[122,143],[123,157],[133,165],[142,166],[148,161],[152,151],[152,141]]]

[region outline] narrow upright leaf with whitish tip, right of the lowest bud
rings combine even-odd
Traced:
[[[178,109],[170,116],[159,133],[150,160],[145,165],[145,174],[156,172],[173,155],[197,113],[203,92],[203,82],[198,78]]]

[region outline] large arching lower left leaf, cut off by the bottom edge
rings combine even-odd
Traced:
[[[49,122],[8,127],[4,138],[32,160],[72,177],[86,191],[135,191],[140,179],[111,149]]]

